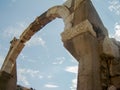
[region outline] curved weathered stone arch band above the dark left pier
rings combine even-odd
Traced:
[[[5,61],[3,63],[3,66],[1,68],[1,71],[5,71],[8,74],[13,75],[13,70],[15,67],[16,59],[22,49],[25,46],[25,43],[30,40],[30,38],[40,31],[46,24],[54,20],[56,17],[62,18],[65,26],[69,24],[68,21],[66,21],[66,18],[70,15],[70,11],[65,6],[55,6],[50,9],[48,9],[45,13],[37,17],[25,31],[21,34],[19,39],[16,39],[15,37],[10,42],[11,46],[9,49],[9,52],[5,58]],[[70,20],[69,20],[70,21]],[[67,26],[68,28],[68,26]]]

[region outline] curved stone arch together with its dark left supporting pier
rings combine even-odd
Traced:
[[[17,76],[16,76],[16,59],[25,43],[30,40],[30,38],[40,31],[46,24],[54,20],[55,18],[62,18],[65,23],[65,28],[70,28],[70,21],[66,22],[66,18],[70,15],[70,11],[64,5],[54,6],[48,9],[45,13],[37,17],[27,29],[20,35],[20,38],[13,38],[10,42],[11,46],[8,54],[4,60],[1,67],[0,78],[0,90],[16,90]],[[7,76],[6,76],[7,75]]]

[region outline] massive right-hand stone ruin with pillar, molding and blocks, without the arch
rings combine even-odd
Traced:
[[[73,3],[66,2],[69,7],[70,1]],[[77,90],[119,89],[120,43],[109,38],[90,0],[74,3],[67,19],[72,19],[72,27],[65,28],[61,36],[65,48],[79,62]]]

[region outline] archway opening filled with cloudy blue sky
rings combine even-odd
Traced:
[[[63,21],[57,19],[31,38],[17,60],[18,84],[36,90],[76,87],[77,61],[63,47],[63,28]]]

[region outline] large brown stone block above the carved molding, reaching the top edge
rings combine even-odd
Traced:
[[[87,19],[92,24],[98,37],[108,35],[107,29],[100,20],[91,0],[75,0],[75,2],[79,5],[74,11],[73,25],[77,25]]]

